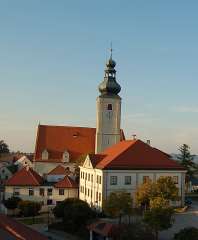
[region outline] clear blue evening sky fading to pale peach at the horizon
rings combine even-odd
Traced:
[[[39,122],[95,127],[110,42],[122,128],[198,153],[197,0],[0,0],[0,139],[33,152]]]

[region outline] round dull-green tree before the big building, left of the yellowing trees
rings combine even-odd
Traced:
[[[132,198],[124,191],[112,192],[104,202],[104,212],[111,217],[121,217],[132,213]]]

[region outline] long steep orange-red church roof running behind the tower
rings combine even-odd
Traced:
[[[39,125],[35,147],[35,161],[61,162],[65,150],[70,160],[95,152],[95,128]],[[121,130],[121,140],[125,139]],[[47,149],[48,160],[42,160],[42,152]]]

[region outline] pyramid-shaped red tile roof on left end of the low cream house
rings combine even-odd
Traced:
[[[6,186],[39,186],[43,182],[42,177],[31,168],[24,167],[16,172],[5,183]]]

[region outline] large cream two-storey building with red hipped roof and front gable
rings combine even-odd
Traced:
[[[184,204],[186,170],[171,156],[141,140],[121,141],[100,154],[89,154],[80,167],[79,197],[101,210],[103,200],[114,191],[126,191],[131,197],[139,185],[150,179],[171,176]]]

